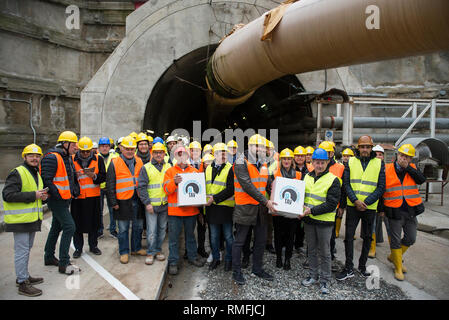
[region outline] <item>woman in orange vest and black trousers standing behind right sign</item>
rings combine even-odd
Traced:
[[[271,183],[274,182],[277,177],[301,180],[301,172],[295,170],[293,151],[286,148],[281,151],[279,158],[281,162],[280,166],[270,175],[270,178],[268,179],[268,186],[271,187]],[[271,194],[271,190],[269,191]],[[284,270],[291,269],[290,259],[293,254],[294,235],[297,228],[296,221],[296,218],[292,219],[273,215],[274,248],[276,252],[277,268],[284,267]],[[285,247],[284,262],[282,262],[283,247]]]

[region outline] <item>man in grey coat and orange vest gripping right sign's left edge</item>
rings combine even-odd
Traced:
[[[252,272],[265,280],[273,280],[273,276],[262,268],[267,237],[267,208],[276,212],[273,201],[265,197],[268,182],[265,140],[258,134],[252,136],[248,142],[248,151],[237,157],[234,166],[235,208],[233,220],[236,233],[232,245],[232,276],[238,284],[245,284],[240,259],[242,247],[251,226],[254,228]]]

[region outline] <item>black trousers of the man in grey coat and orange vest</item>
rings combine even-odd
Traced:
[[[253,268],[255,273],[262,271],[262,260],[267,241],[267,225],[261,224],[259,215],[257,216],[257,223],[253,227],[254,231],[254,251],[253,251]],[[232,243],[232,270],[234,272],[241,272],[241,256],[242,249],[245,244],[246,237],[250,231],[251,226],[242,224],[235,224],[235,239]]]

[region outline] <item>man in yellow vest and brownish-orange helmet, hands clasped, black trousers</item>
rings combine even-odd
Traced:
[[[361,136],[358,150],[345,164],[343,185],[347,194],[347,213],[345,231],[345,268],[336,276],[337,280],[345,280],[354,276],[354,234],[362,220],[362,252],[359,258],[359,271],[368,277],[366,262],[371,246],[371,231],[376,218],[377,205],[385,190],[385,164],[372,151],[374,146],[370,136]]]

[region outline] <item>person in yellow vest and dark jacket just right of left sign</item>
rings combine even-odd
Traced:
[[[217,143],[213,148],[215,160],[206,168],[206,219],[212,249],[212,262],[209,270],[220,264],[220,235],[223,231],[226,242],[225,271],[232,269],[232,212],[234,211],[234,171],[227,162],[227,147]]]

